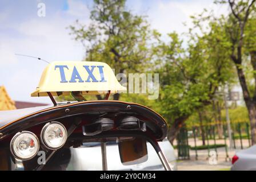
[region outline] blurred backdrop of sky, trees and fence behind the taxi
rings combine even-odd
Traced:
[[[46,61],[159,73],[157,99],[113,99],[165,117],[178,169],[229,169],[256,143],[255,13],[254,0],[0,1],[0,110],[51,103],[30,97]]]

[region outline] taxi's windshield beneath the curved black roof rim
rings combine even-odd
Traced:
[[[121,162],[118,141],[107,141],[105,143],[107,170],[164,170],[157,152],[149,142],[146,142],[146,156],[143,156],[143,160],[136,164]],[[139,148],[137,152],[139,152]],[[61,148],[55,152],[43,169],[64,171],[102,170],[101,142],[83,142],[77,148]]]

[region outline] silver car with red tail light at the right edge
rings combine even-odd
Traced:
[[[256,170],[256,145],[237,152],[232,158],[232,171]]]

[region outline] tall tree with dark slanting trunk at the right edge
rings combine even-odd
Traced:
[[[245,72],[243,70],[243,62],[245,62],[243,56],[247,53],[250,55],[251,65],[253,66],[254,73],[256,73],[256,51],[255,51],[255,16],[250,19],[250,15],[255,14],[255,0],[252,1],[231,1],[229,0],[229,6],[231,14],[226,23],[227,35],[229,35],[231,43],[231,60],[235,64],[237,69],[237,75],[240,85],[243,91],[243,99],[249,113],[250,125],[251,125],[251,140],[252,143],[256,143],[256,76],[254,76],[254,93],[250,94],[248,82]],[[251,25],[249,24],[251,23]],[[248,25],[249,24],[249,25]],[[251,28],[250,28],[251,26]],[[254,28],[255,29],[255,28]],[[254,31],[254,32],[253,32]],[[248,34],[246,34],[247,32]],[[253,46],[254,45],[254,46]],[[255,75],[255,74],[254,74]]]

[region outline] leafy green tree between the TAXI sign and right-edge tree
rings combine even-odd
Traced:
[[[182,48],[178,35],[169,34],[171,41],[159,44],[158,72],[161,75],[162,114],[170,123],[169,140],[173,142],[179,129],[195,110],[210,105],[215,92],[233,74],[229,61],[229,47],[224,28],[210,23],[210,32],[190,34],[187,49]],[[225,47],[225,49],[223,49]]]

